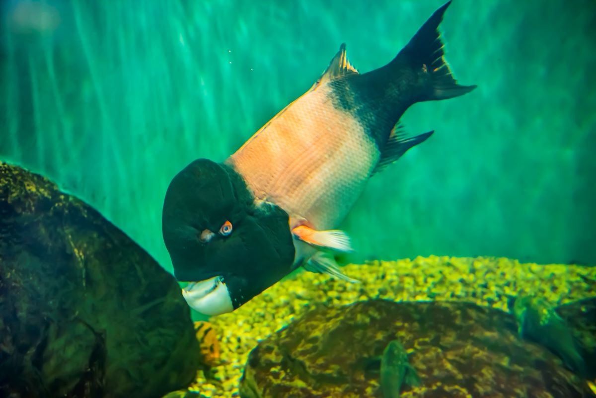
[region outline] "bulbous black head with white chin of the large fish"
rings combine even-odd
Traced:
[[[242,177],[226,164],[198,159],[170,182],[162,232],[187,303],[206,315],[240,307],[290,272],[289,217],[256,204]]]

